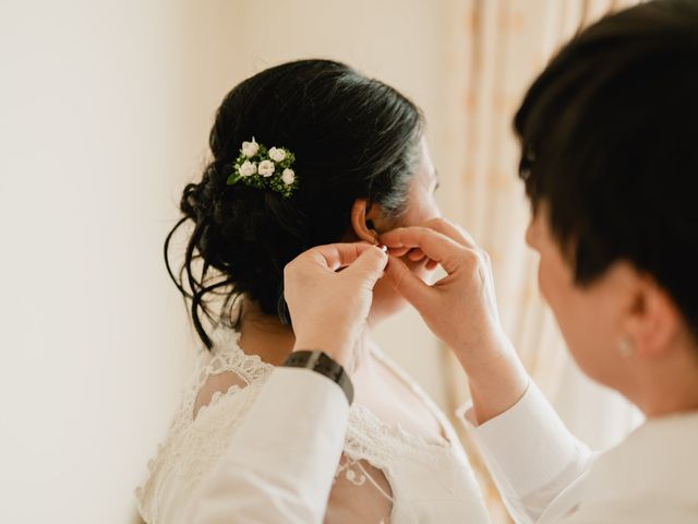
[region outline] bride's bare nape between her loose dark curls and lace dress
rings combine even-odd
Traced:
[[[262,360],[274,366],[280,366],[296,344],[296,335],[290,325],[284,325],[275,314],[265,314],[249,299],[242,302],[239,331],[242,350],[248,355],[258,355]],[[360,354],[368,355],[372,344],[368,329],[359,343]],[[361,355],[359,362],[362,360]]]

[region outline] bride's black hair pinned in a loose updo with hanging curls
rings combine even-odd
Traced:
[[[184,216],[165,243],[168,271],[191,299],[192,321],[206,347],[212,341],[200,313],[213,324],[226,323],[240,295],[284,319],[284,266],[346,235],[357,199],[390,216],[404,211],[422,127],[420,110],[395,88],[330,60],[273,67],[228,93],[210,131],[213,159],[201,180],[184,188]],[[291,198],[226,183],[242,142],[252,138],[296,155],[299,187]],[[169,245],[186,222],[193,231],[176,276]],[[217,312],[216,298],[222,299]]]

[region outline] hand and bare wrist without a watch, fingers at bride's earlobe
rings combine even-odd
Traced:
[[[442,218],[394,229],[380,241],[389,249],[386,273],[395,288],[454,349],[468,374],[477,420],[482,424],[508,409],[529,379],[500,322],[488,253]],[[422,282],[398,258],[410,250],[438,263],[446,276],[431,286]]]

